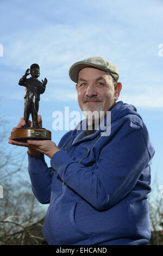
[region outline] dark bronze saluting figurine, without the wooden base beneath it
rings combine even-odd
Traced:
[[[31,74],[30,78],[27,76]],[[26,87],[26,93],[24,96],[24,120],[26,121],[25,127],[28,127],[29,115],[32,114],[33,127],[39,127],[37,123],[37,113],[39,110],[40,94],[45,92],[47,79],[42,80],[42,83],[37,79],[40,76],[40,67],[38,64],[32,64],[29,69],[26,70],[24,76],[21,77],[18,84]]]

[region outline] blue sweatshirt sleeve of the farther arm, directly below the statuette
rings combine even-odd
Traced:
[[[51,199],[52,179],[54,189],[58,190],[60,187],[60,181],[57,179],[58,174],[47,166],[43,154],[40,159],[28,154],[28,172],[35,197],[41,204],[48,204]]]

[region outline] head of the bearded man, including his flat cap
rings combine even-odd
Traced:
[[[73,64],[69,75],[77,83],[78,103],[82,111],[104,111],[106,115],[118,100],[122,84],[118,82],[117,67],[108,60],[88,58]]]

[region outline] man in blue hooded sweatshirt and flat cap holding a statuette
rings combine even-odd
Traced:
[[[58,147],[52,141],[9,141],[28,147],[32,190],[49,204],[43,236],[49,245],[146,245],[154,155],[147,128],[134,106],[116,102],[122,84],[114,64],[91,57],[74,63],[69,75],[86,115],[102,110],[103,123],[111,111],[111,132],[104,136],[87,118],[87,130],[68,131]],[[21,118],[14,130],[23,125]]]

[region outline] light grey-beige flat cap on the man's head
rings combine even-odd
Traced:
[[[101,69],[105,72],[109,72],[109,74],[114,77],[115,81],[116,82],[118,81],[119,74],[118,74],[117,66],[109,62],[109,60],[106,60],[101,57],[90,57],[90,58],[81,60],[80,62],[74,63],[69,70],[69,76],[71,80],[73,82],[78,83],[79,71],[88,66],[95,66],[95,68]]]

